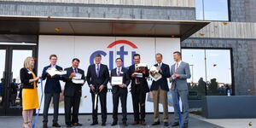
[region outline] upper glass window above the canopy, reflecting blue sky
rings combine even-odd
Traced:
[[[196,20],[229,20],[228,0],[196,0]]]

